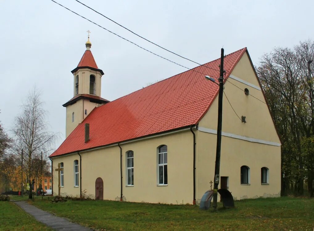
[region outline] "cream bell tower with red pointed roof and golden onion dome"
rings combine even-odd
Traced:
[[[90,31],[87,31],[90,33]],[[81,123],[84,118],[95,108],[108,100],[101,98],[101,77],[104,72],[98,68],[94,56],[90,51],[92,44],[85,43],[86,50],[72,70],[73,74],[73,98],[62,106],[66,108],[66,137]]]

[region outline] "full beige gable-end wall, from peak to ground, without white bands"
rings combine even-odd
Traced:
[[[246,53],[242,56],[231,75],[251,84],[259,86],[255,73]],[[250,94],[262,102],[246,96],[241,89],[248,88]],[[225,94],[232,107],[241,118],[242,123],[223,96],[222,131],[245,137],[280,143],[272,118],[265,103],[263,93],[244,83],[229,78],[225,82]],[[217,130],[218,97],[199,123],[199,127]],[[214,181],[214,165],[217,135],[198,131],[197,140],[197,198],[210,189],[210,181]],[[251,185],[240,184],[240,168],[250,168]],[[222,137],[220,176],[229,176],[229,190],[236,199],[255,198],[260,196],[280,195],[280,146],[253,143],[241,139]],[[261,168],[269,168],[269,185],[261,184]],[[220,186],[219,186],[220,187]]]

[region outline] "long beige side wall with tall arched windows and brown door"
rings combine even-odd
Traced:
[[[168,185],[157,186],[157,147],[168,146]],[[121,144],[123,200],[133,202],[185,204],[193,202],[193,135],[187,130],[153,139]],[[134,186],[126,186],[126,152],[134,152]],[[118,146],[81,153],[82,191],[95,198],[95,180],[104,181],[104,199],[120,198],[120,149]],[[53,165],[64,162],[63,195],[77,195],[73,161],[77,154],[53,158]],[[79,160],[79,159],[78,159]],[[55,178],[57,173],[54,172]],[[57,178],[56,178],[57,179]],[[69,183],[68,183],[69,182]],[[54,180],[57,192],[57,180]]]

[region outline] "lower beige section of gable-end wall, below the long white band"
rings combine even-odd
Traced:
[[[198,131],[197,190],[198,202],[214,181],[216,135]],[[250,185],[241,185],[240,168],[250,168]],[[261,168],[269,169],[269,185],[261,184]],[[229,177],[228,190],[237,199],[280,196],[280,147],[222,137],[220,176]],[[213,184],[214,188],[214,184]],[[219,185],[220,188],[220,185]]]

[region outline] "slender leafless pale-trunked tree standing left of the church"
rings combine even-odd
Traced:
[[[14,150],[18,155],[24,150],[24,166],[26,179],[30,182],[33,176],[34,159],[40,158],[41,151],[46,154],[51,150],[57,134],[48,131],[46,111],[40,99],[40,92],[34,87],[22,105],[23,111],[15,117],[12,133],[14,134]]]

